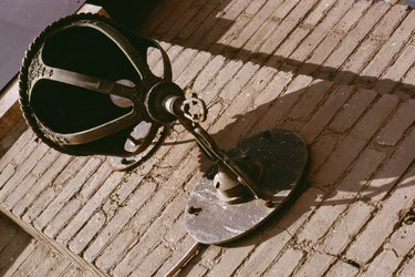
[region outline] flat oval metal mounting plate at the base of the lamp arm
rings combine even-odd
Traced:
[[[227,243],[258,227],[293,195],[308,160],[305,143],[295,133],[286,130],[259,133],[228,152],[230,157],[240,154],[263,165],[258,189],[273,201],[226,204],[214,187],[217,167],[210,167],[190,194],[185,213],[186,228],[199,243]]]

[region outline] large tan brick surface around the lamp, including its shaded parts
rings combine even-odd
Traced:
[[[286,127],[311,156],[309,185],[283,214],[201,248],[184,275],[411,276],[414,20],[366,0],[160,1],[137,31],[207,102],[203,125],[219,145]],[[28,130],[0,160],[0,207],[95,274],[163,276],[194,244],[183,213],[206,165],[178,125],[128,173],[49,150]]]

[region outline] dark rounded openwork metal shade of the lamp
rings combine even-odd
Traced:
[[[162,78],[148,69],[151,48],[162,53]],[[145,150],[131,153],[124,145],[137,124],[151,121],[146,92],[170,80],[169,60],[155,41],[105,18],[75,14],[48,27],[31,44],[20,74],[20,103],[49,146],[74,155],[131,156]],[[155,140],[153,131],[142,145]]]

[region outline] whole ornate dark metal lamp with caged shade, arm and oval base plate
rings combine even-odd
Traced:
[[[149,48],[160,51],[163,76],[148,68]],[[308,160],[304,142],[286,130],[221,151],[200,126],[204,101],[172,82],[166,52],[93,14],[61,19],[34,40],[21,68],[20,98],[43,142],[72,155],[110,155],[115,170],[144,162],[178,121],[214,162],[185,213],[187,230],[204,244],[236,239],[276,213],[293,195]]]

